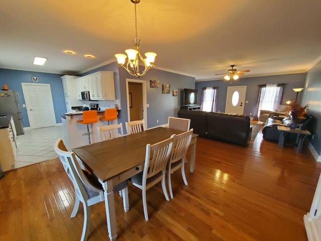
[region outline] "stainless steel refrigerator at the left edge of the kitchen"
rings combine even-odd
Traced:
[[[11,113],[14,119],[17,135],[24,134],[19,94],[14,90],[0,90],[0,114],[1,113]]]

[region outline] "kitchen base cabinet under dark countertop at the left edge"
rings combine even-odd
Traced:
[[[9,128],[0,129],[0,152],[0,162],[3,171],[14,169],[16,162],[16,144],[11,125]]]

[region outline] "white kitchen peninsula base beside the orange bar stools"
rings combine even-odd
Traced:
[[[98,110],[98,121],[93,124],[89,124],[90,142],[91,144],[100,142],[99,133],[97,127],[107,126],[108,122],[101,121],[99,117],[105,115],[104,110]],[[87,125],[77,123],[82,119],[82,111],[67,112],[61,116],[63,125],[63,141],[68,150],[73,148],[82,147],[88,145]],[[109,125],[117,124],[117,119],[109,122]],[[123,127],[124,128],[124,127]]]

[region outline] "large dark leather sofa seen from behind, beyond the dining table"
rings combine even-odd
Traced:
[[[201,137],[247,146],[252,127],[248,115],[181,109],[181,118],[191,119],[191,129]]]

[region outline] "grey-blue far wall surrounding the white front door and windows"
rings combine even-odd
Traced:
[[[226,80],[212,80],[212,81],[200,81],[195,83],[195,88],[198,89],[198,103],[201,103],[202,100],[202,88],[204,87],[219,87],[217,94],[217,105],[216,111],[224,112],[225,111],[225,102],[226,102],[226,93],[228,86],[242,86],[246,85],[246,97],[245,100],[248,103],[245,103],[244,114],[250,115],[253,117],[255,112],[255,106],[258,98],[258,85],[260,84],[286,84],[284,88],[283,101],[282,104],[285,104],[287,100],[293,99],[296,96],[296,93],[292,90],[293,88],[303,88],[305,81],[305,73],[300,74],[284,74],[284,75],[272,75],[272,76],[262,76],[262,77],[250,77],[245,78],[241,77],[238,80],[226,81]],[[297,96],[298,101],[300,101],[302,94],[299,93]]]

